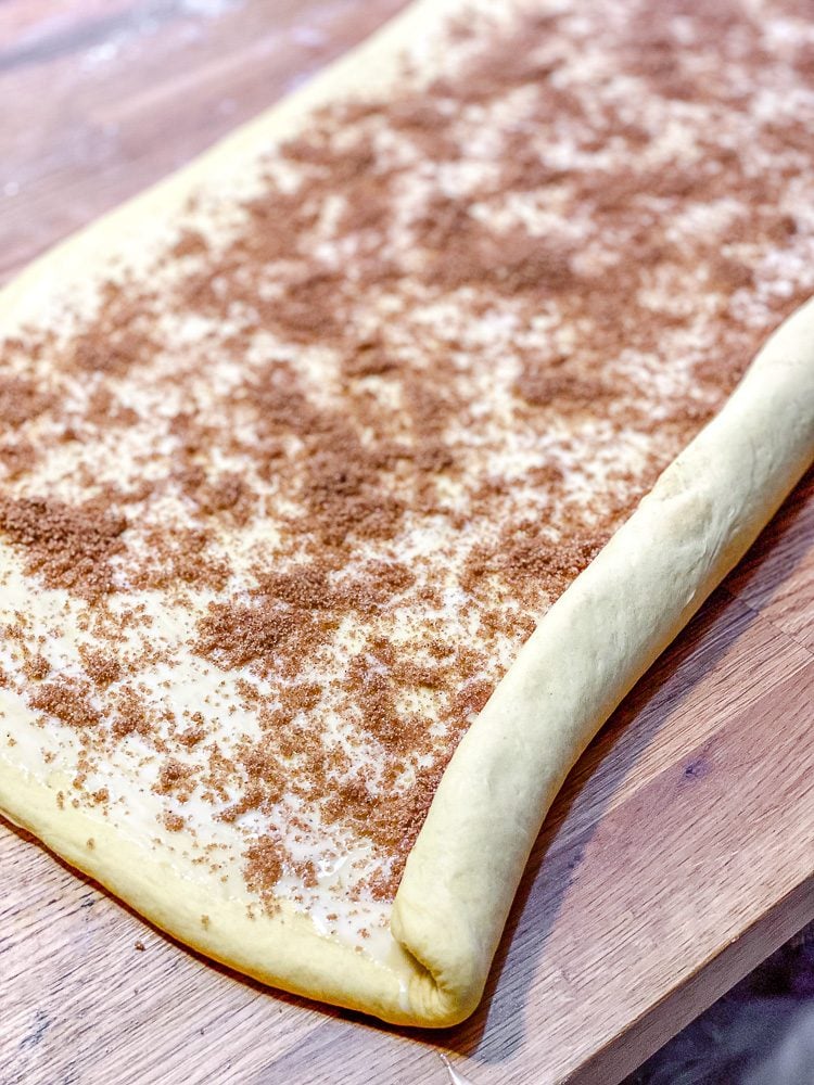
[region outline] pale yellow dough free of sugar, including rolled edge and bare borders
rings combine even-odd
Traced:
[[[258,144],[295,131],[320,102],[385,82],[395,53],[431,50],[433,22],[456,7],[414,4],[305,90],[37,261],[0,294],[0,333],[41,317],[66,284],[76,294],[88,269],[116,254],[149,256],[202,181],[211,191],[251,187]],[[60,780],[26,771],[5,748],[0,807],[158,927],[241,972],[391,1022],[460,1021],[482,995],[529,852],[569,769],[812,457],[814,303],[771,339],[725,408],[548,611],[466,735],[409,856],[389,956],[321,936],[285,904],[250,919],[244,899],[215,878],[202,881],[179,855],[161,859],[101,813],[58,808]]]

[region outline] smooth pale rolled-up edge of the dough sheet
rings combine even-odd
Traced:
[[[391,928],[471,1011],[565,776],[740,560],[814,459],[814,299],[543,617],[458,746],[407,859]]]

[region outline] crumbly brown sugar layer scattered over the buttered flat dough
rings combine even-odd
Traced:
[[[3,669],[79,783],[132,748],[266,907],[359,844],[392,899],[520,644],[814,291],[810,34],[758,7],[470,12],[0,348],[0,535],[82,637],[7,616]]]

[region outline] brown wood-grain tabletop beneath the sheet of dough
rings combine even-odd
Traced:
[[[399,7],[0,0],[0,276]],[[813,703],[810,473],[572,773],[442,1033],[207,963],[0,824],[0,1083],[614,1085],[814,917]]]

